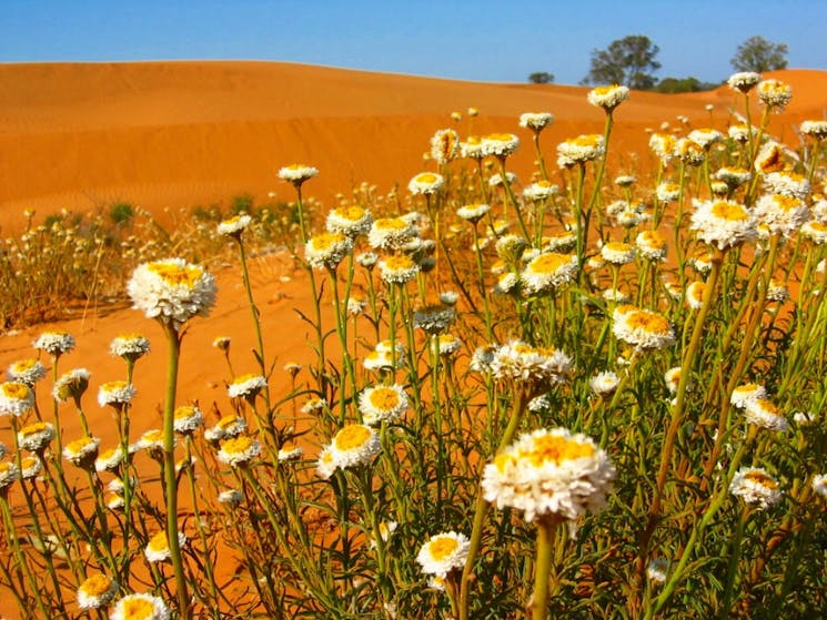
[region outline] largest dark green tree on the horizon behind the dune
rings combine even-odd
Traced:
[[[650,90],[657,83],[652,73],[660,69],[655,60],[660,48],[648,37],[631,34],[612,41],[605,50],[592,50],[592,69],[584,84],[624,84],[631,89]]]

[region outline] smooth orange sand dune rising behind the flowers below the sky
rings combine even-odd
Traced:
[[[821,118],[827,72],[786,71],[791,124]],[[20,213],[85,211],[129,201],[158,211],[249,192],[292,194],[275,177],[296,161],[321,170],[310,191],[323,201],[365,181],[380,191],[422,170],[433,132],[450,113],[476,106],[471,131],[513,131],[526,111],[549,111],[556,124],[544,149],[599,131],[603,112],[578,87],[472,83],[264,62],[142,62],[0,65],[0,225]],[[645,151],[645,126],[728,118],[728,89],[687,95],[634,93],[616,112],[617,143]],[[457,123],[468,133],[468,119]],[[778,128],[776,128],[778,129]],[[525,135],[527,138],[527,134]],[[528,174],[531,149],[514,161]]]

